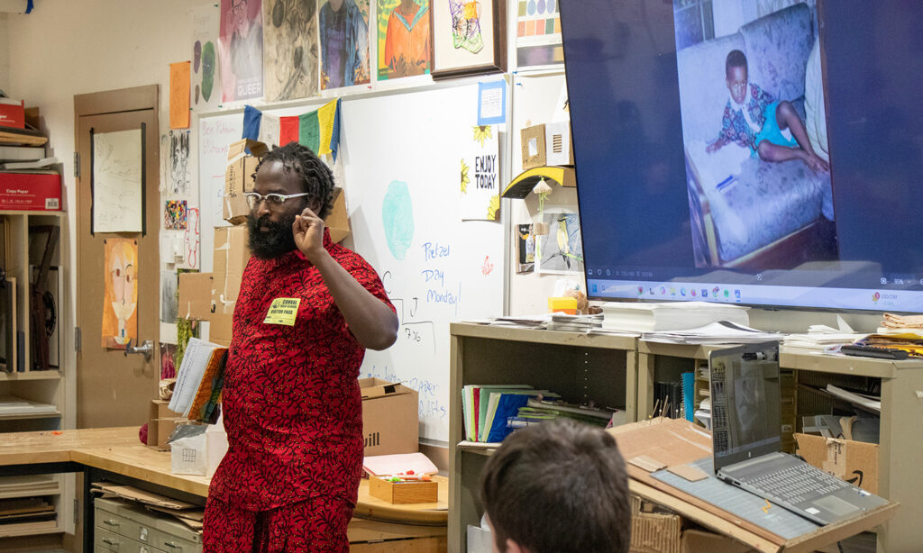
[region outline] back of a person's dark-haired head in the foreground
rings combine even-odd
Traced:
[[[481,498],[500,551],[627,553],[628,477],[615,439],[552,420],[513,432],[488,459]]]

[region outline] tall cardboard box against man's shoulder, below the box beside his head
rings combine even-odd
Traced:
[[[231,314],[240,293],[244,269],[250,261],[249,237],[246,227],[216,227],[215,249],[212,253],[211,302],[213,315]],[[211,322],[213,317],[209,317]]]

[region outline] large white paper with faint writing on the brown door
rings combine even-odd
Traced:
[[[141,232],[141,129],[93,135],[93,232]]]

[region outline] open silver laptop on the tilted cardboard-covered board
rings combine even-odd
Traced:
[[[887,503],[782,453],[778,342],[714,350],[708,364],[718,478],[817,524]]]

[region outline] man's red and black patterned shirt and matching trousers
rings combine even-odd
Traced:
[[[394,309],[371,265],[326,229],[324,248]],[[264,324],[276,299],[301,300],[294,325]],[[222,394],[230,447],[209,488],[207,553],[348,550],[362,475],[356,379],[365,351],[304,255],[250,259],[234,308]]]

